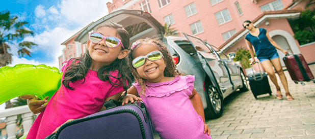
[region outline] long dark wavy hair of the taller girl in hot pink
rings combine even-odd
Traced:
[[[121,49],[128,49],[130,36],[129,36],[129,33],[122,27],[122,25],[109,22],[109,23],[104,23],[98,26],[96,30],[102,27],[110,27],[110,28],[116,29],[117,33],[119,34],[121,38],[122,45],[124,46],[124,48],[121,47]],[[71,64],[66,68],[66,72],[64,74],[64,80],[62,81],[62,84],[71,90],[73,90],[74,88],[70,87],[69,85],[70,82],[73,83],[74,81],[82,80],[82,79],[84,79],[84,82],[85,82],[85,76],[92,63],[92,58],[89,54],[88,49],[80,57],[76,57],[72,59],[73,60]],[[127,57],[124,57],[123,59],[116,58],[116,60],[114,60],[110,65],[100,67],[97,71],[97,77],[101,81],[109,81],[110,84],[115,87],[122,85],[123,89],[127,91],[127,89],[130,87],[132,83],[132,75],[127,64],[128,64]],[[111,71],[115,71],[115,70],[118,70],[117,77],[114,77],[109,74]],[[118,79],[120,83],[116,84],[112,82],[111,78],[109,77]]]

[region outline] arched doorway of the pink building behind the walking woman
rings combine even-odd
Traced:
[[[280,35],[276,35],[274,37],[272,37],[272,39],[283,49],[283,50],[287,50],[289,51],[289,54],[293,54],[290,45],[287,43],[286,39],[283,36]],[[282,66],[285,66],[284,62],[283,62],[283,57],[285,56],[285,54],[283,54],[280,50],[277,49],[277,52],[279,54],[279,58],[280,58],[280,62]]]

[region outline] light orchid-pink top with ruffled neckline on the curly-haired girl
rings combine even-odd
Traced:
[[[211,138],[203,133],[203,119],[189,99],[194,81],[195,77],[188,75],[176,76],[169,82],[147,83],[144,96],[140,95],[140,84],[133,84],[148,109],[153,129],[161,138]]]

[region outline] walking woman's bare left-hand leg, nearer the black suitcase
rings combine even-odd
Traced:
[[[281,97],[281,91],[280,91],[280,87],[278,85],[278,81],[277,81],[277,77],[275,74],[275,70],[273,70],[272,68],[272,64],[270,60],[265,60],[263,62],[261,62],[261,65],[264,67],[264,70],[267,72],[267,74],[270,77],[270,80],[273,82],[273,84],[276,86],[277,88],[277,97],[282,98]],[[282,68],[281,68],[282,69]],[[285,78],[285,77],[284,77]]]

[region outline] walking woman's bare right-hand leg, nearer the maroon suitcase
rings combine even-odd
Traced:
[[[285,90],[285,95],[287,97],[288,100],[292,100],[293,97],[291,96],[289,90],[288,90],[288,86],[287,86],[287,81],[286,81],[286,77],[283,73],[283,70],[282,70],[282,66],[281,66],[281,63],[280,63],[280,59],[279,58],[275,58],[275,59],[271,59],[270,60],[273,64],[273,66],[275,67],[275,70],[280,78],[280,81],[284,87],[284,90]]]

